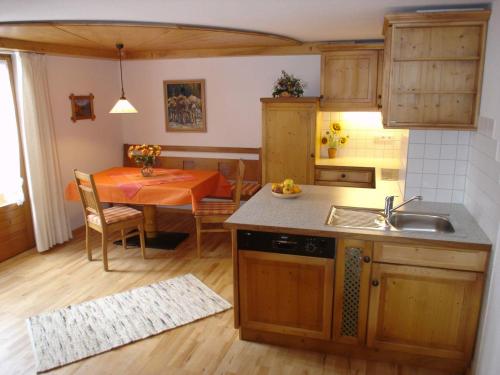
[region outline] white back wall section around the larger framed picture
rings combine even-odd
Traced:
[[[261,146],[261,103],[281,70],[303,79],[305,96],[319,95],[319,56],[221,57],[126,61],[125,92],[138,109],[123,117],[125,143]],[[207,133],[165,131],[163,80],[206,82]]]

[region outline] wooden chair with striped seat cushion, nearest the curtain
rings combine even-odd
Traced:
[[[104,264],[104,271],[108,271],[108,239],[110,239],[110,235],[115,232],[121,233],[124,249],[127,248],[127,238],[139,235],[142,257],[146,259],[144,218],[142,212],[127,206],[113,206],[103,209],[97,194],[94,177],[76,169],[74,169],[73,172],[83,205],[85,247],[87,249],[88,259],[92,260],[92,250],[89,246],[90,228],[102,235],[102,261]],[[126,233],[127,230],[134,228],[137,228],[137,231]]]

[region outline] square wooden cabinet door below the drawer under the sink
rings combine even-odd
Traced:
[[[367,344],[469,360],[483,274],[373,263]]]

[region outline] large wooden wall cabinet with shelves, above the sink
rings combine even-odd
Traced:
[[[489,11],[385,17],[383,122],[475,129]]]

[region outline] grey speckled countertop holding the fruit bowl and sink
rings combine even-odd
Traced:
[[[382,209],[385,194],[379,189],[303,185],[302,195],[295,199],[279,199],[265,185],[225,222],[226,227],[250,230],[311,232],[316,235],[370,237],[380,240],[409,239],[446,242],[446,245],[474,245],[489,250],[491,242],[462,204],[411,202],[400,210],[449,215],[455,233],[425,233],[334,227],[325,224],[331,205]]]

